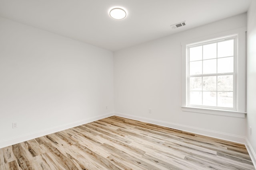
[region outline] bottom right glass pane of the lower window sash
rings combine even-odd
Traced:
[[[218,92],[218,107],[233,107],[233,92]]]

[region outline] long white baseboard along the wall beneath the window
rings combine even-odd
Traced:
[[[187,125],[180,125],[180,124],[176,124],[176,123],[170,123],[170,122],[166,122],[166,121],[149,119],[149,118],[146,118],[146,117],[128,115],[128,114],[124,114],[124,113],[115,113],[115,115],[120,116],[120,117],[124,117],[124,118],[128,118],[128,119],[143,121],[143,122],[146,122],[146,123],[152,123],[154,125],[169,127],[169,128],[176,129],[176,130],[195,133],[195,134],[198,134],[198,135],[204,135],[204,136],[214,137],[214,138],[217,138],[217,139],[222,139],[222,140],[231,141],[231,142],[235,142],[235,143],[245,144],[245,137],[238,136],[238,135],[232,135],[232,134],[228,134],[228,133],[211,131],[211,130],[208,130],[208,129],[202,129],[202,128],[191,127],[191,126],[187,126]]]

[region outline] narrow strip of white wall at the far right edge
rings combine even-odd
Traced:
[[[247,32],[247,139],[256,166],[256,0],[248,10]],[[252,127],[252,134],[250,132]]]

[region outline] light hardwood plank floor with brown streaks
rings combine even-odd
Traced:
[[[112,116],[0,149],[0,170],[254,170],[244,145]]]

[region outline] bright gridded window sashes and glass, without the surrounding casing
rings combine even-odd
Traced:
[[[187,45],[188,106],[236,108],[237,36]]]

